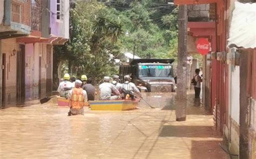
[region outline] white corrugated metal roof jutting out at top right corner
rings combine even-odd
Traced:
[[[256,48],[256,3],[235,2],[228,47]]]

